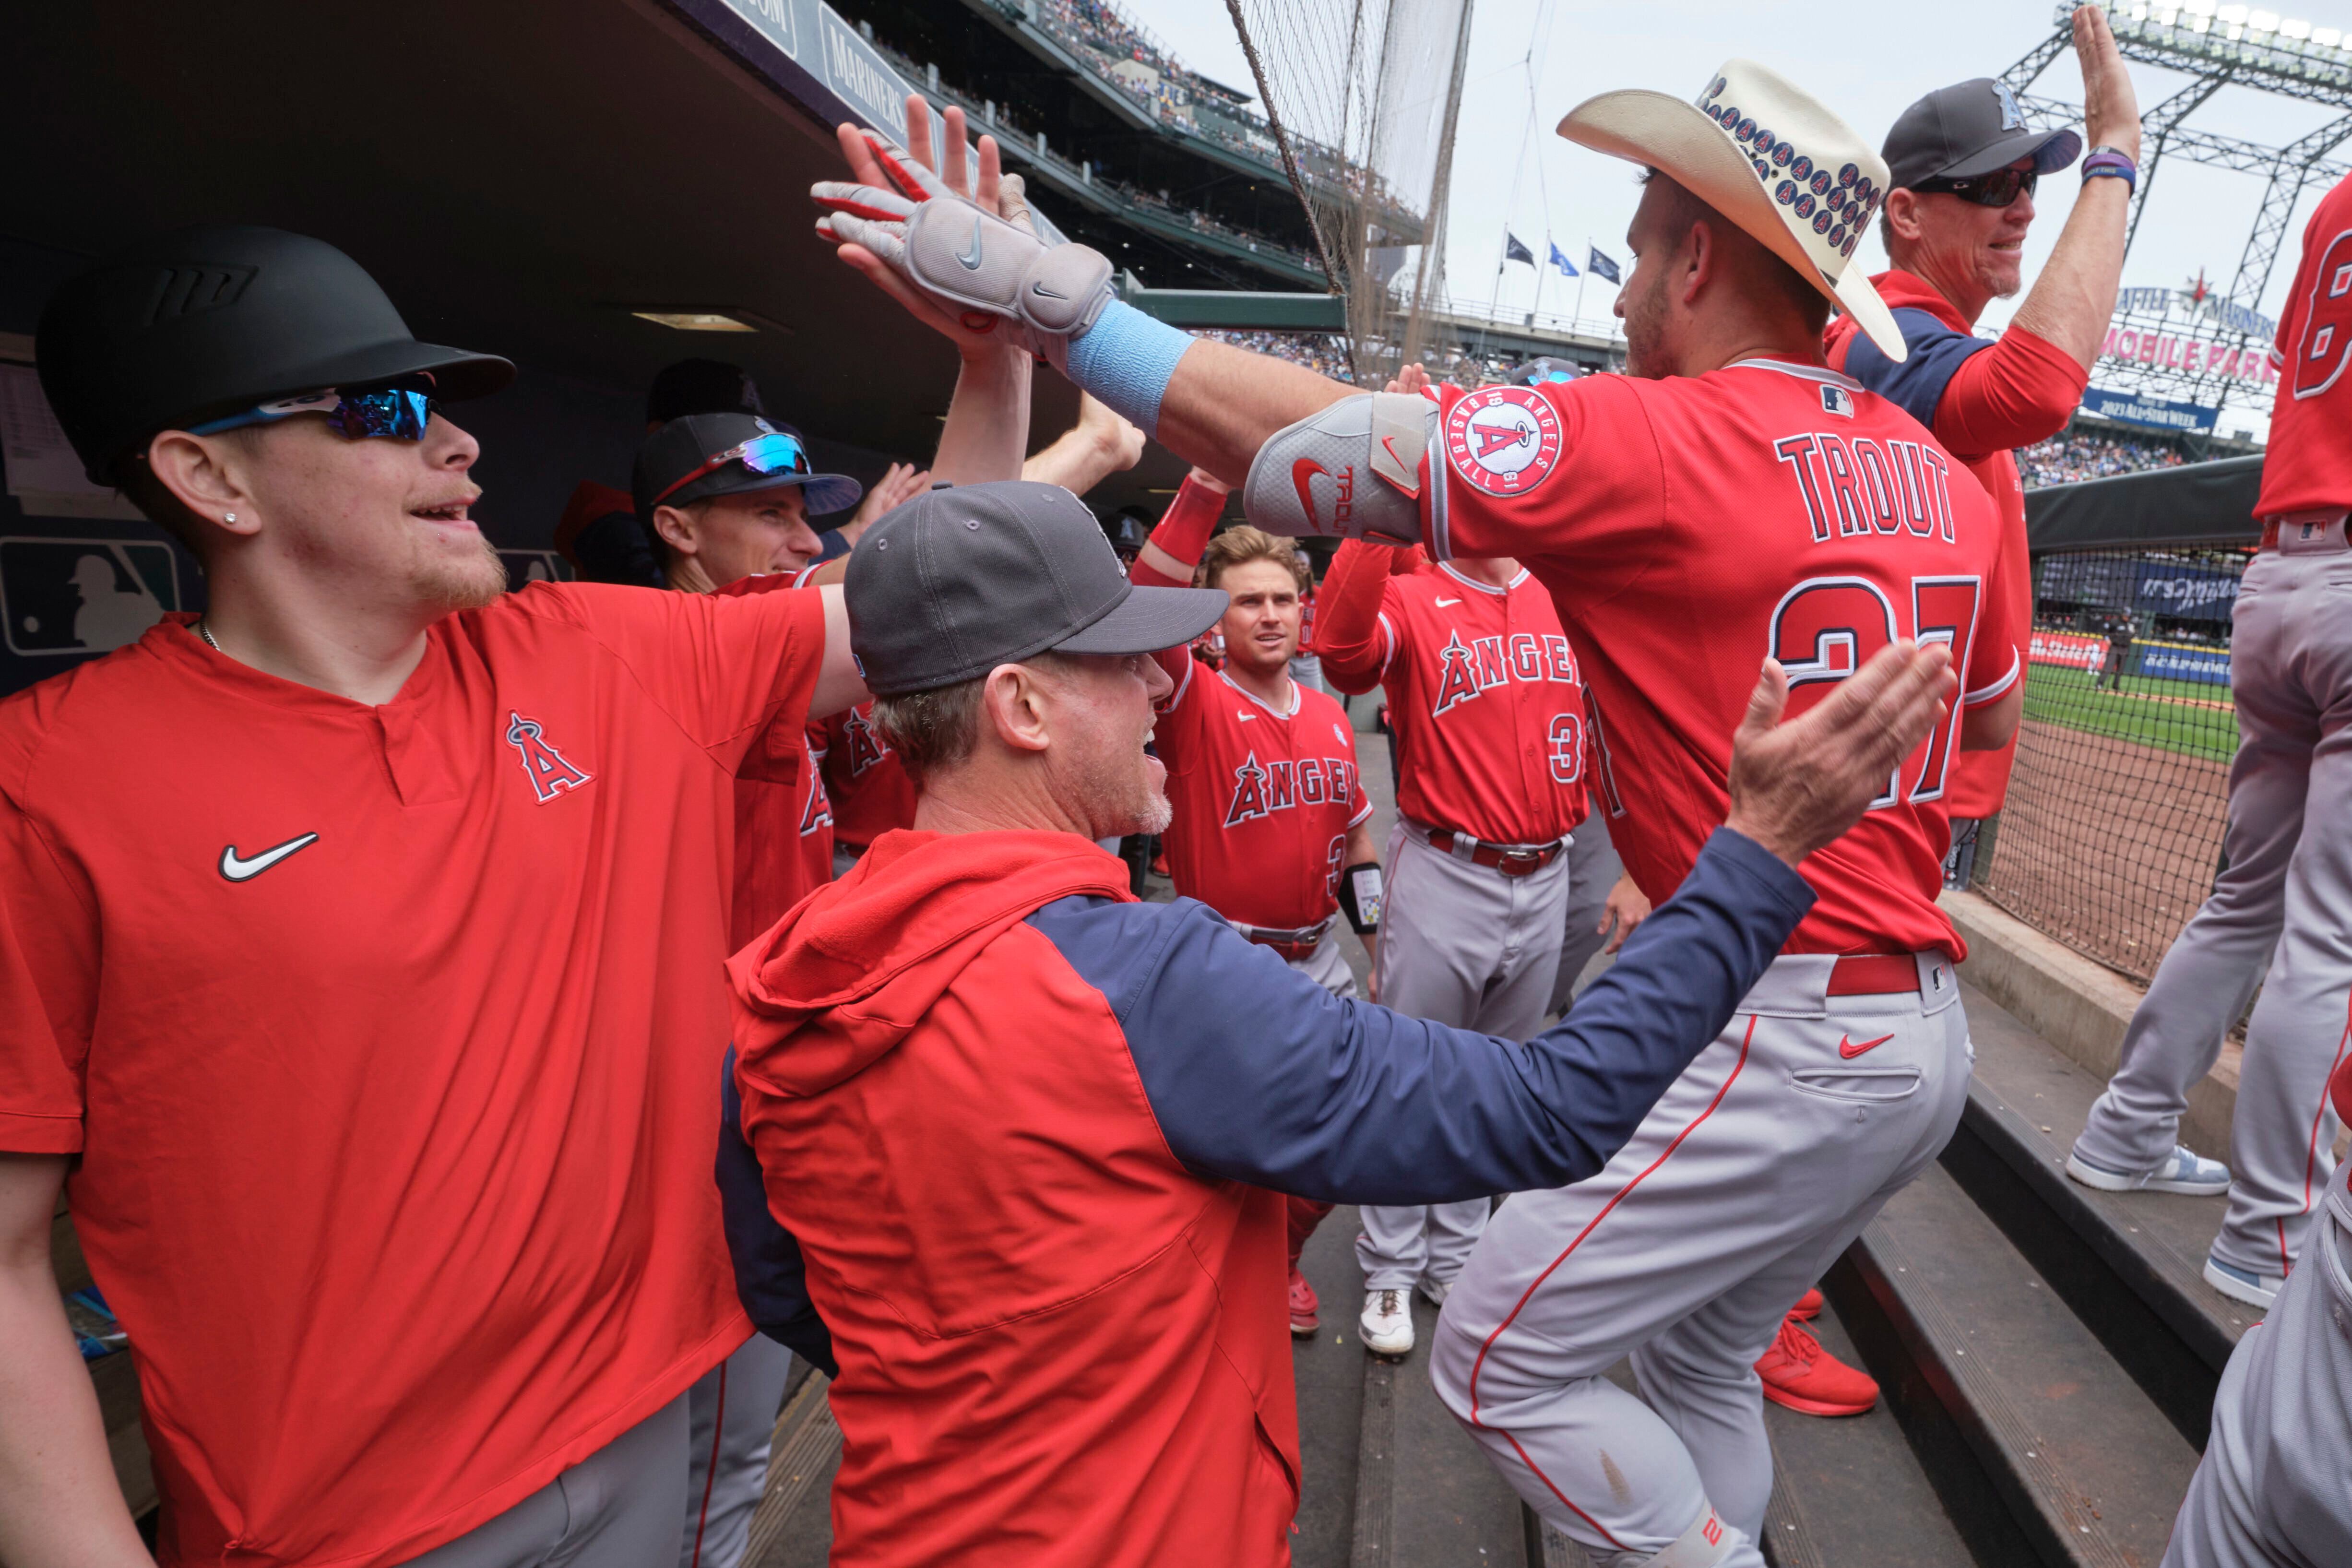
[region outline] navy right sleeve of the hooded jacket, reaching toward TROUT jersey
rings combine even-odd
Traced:
[[[1780,860],[1717,830],[1529,1044],[1341,1001],[1200,905],[1049,907],[1033,924],[1110,997],[1190,1168],[1341,1204],[1446,1204],[1609,1164],[1811,903]]]

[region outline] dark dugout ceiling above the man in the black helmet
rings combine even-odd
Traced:
[[[691,12],[717,14],[696,0],[14,7],[0,235],[19,242],[14,268],[64,275],[179,223],[296,228],[360,259],[428,341],[633,397],[670,360],[739,360],[811,435],[927,458],[955,355],[811,235],[807,188],[837,172],[821,94],[795,96],[781,59],[753,71]],[[633,306],[760,331],[673,331]],[[1035,402],[1040,440],[1077,407],[1051,374]],[[1091,501],[1181,475],[1155,449]]]

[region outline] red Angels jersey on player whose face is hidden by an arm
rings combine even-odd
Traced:
[[[1449,564],[1388,578],[1381,684],[1397,809],[1486,844],[1550,844],[1585,820],[1585,693],[1531,571],[1489,588]]]

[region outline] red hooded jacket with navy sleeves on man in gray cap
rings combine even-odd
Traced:
[[[1517,1044],[1341,1001],[1073,835],[875,839],[727,966],[729,1246],[837,1363],[833,1563],[1287,1563],[1279,1194],[1597,1173],[1811,898],[1719,830]]]

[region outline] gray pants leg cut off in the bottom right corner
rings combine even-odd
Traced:
[[[2352,1563],[2352,1197],[2328,1182],[2312,1255],[2237,1342],[2164,1568]]]

